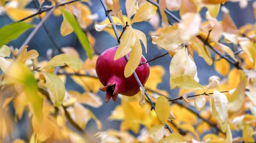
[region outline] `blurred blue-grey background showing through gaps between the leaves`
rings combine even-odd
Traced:
[[[46,1],[44,5],[51,5],[50,2]],[[120,6],[122,9],[123,14],[125,14],[125,0],[120,0]],[[246,8],[241,9],[239,6],[239,3],[231,3],[227,2],[224,4],[229,10],[230,10],[230,16],[232,17],[233,21],[235,22],[236,26],[240,28],[241,26],[245,25],[246,23],[255,23],[255,18],[253,16],[253,0],[248,1],[248,6]],[[28,8],[35,8],[35,6],[30,3]],[[105,11],[102,8],[102,5],[99,0],[91,0],[90,8],[92,13],[98,14],[98,20],[95,21],[101,22],[102,20],[105,20]],[[201,14],[204,16],[205,12],[207,11],[206,8],[204,8],[201,12]],[[175,14],[177,17],[180,18],[179,13],[177,11],[173,11],[173,14]],[[220,11],[218,14],[217,19],[222,20],[223,18],[223,12]],[[63,17],[55,17],[50,16],[48,20],[45,22],[45,25],[47,26],[48,30],[54,37],[55,41],[58,43],[59,47],[73,47],[75,48],[79,54],[81,59],[86,59],[86,54],[82,46],[80,45],[76,35],[74,33],[62,37],[60,34],[60,27],[61,22],[63,20]],[[174,22],[170,19],[171,22]],[[10,24],[13,21],[5,14],[2,13],[0,15],[0,27],[3,27],[4,25]],[[39,19],[34,19],[32,21],[33,24],[37,24],[39,22]],[[111,48],[115,45],[117,45],[117,41],[115,37],[112,37],[110,34],[106,32],[97,32],[94,30],[94,25],[91,25],[88,30],[90,33],[95,37],[96,39],[96,45],[95,49],[97,53],[102,53],[104,50]],[[154,28],[148,23],[148,22],[137,22],[133,25],[134,28],[139,29],[143,31],[147,37],[149,36],[150,31],[154,31]],[[19,38],[16,40],[10,42],[8,46],[12,46],[14,48],[19,48],[20,45],[23,44],[26,37],[31,33],[33,29],[29,29],[24,34],[22,34]],[[148,38],[150,39],[150,38]],[[46,60],[46,53],[48,49],[55,49],[54,45],[50,41],[49,37],[47,36],[47,33],[45,32],[44,28],[41,27],[40,30],[35,34],[31,42],[29,42],[29,50],[35,49],[38,50],[39,61]],[[231,48],[232,45],[229,45]],[[153,45],[151,43],[151,40],[148,40],[148,53],[146,54],[145,51],[143,51],[143,55],[146,59],[152,59],[155,56],[162,55],[163,53],[166,53],[165,50],[160,50],[156,47],[156,45]],[[211,52],[212,53],[212,52]],[[213,54],[213,53],[212,53]],[[213,56],[214,57],[214,56]],[[158,85],[160,89],[166,90],[169,92],[169,94],[174,98],[177,96],[178,90],[170,90],[169,85],[169,64],[171,61],[170,56],[164,56],[160,59],[157,59],[153,62],[150,62],[149,65],[162,65],[165,70],[165,76],[163,77],[163,82]],[[220,74],[216,73],[214,70],[214,66],[209,66],[206,62],[204,62],[204,59],[199,57],[197,53],[194,55],[194,60],[197,65],[198,69],[198,78],[200,79],[200,84],[208,84],[208,79],[210,76],[216,75],[221,77],[221,79],[225,78],[222,77]],[[232,68],[232,67],[231,67]],[[67,90],[78,90],[79,92],[83,92],[82,88],[79,87],[77,84],[75,84],[72,79],[67,78],[66,83],[66,89]],[[105,93],[99,92],[99,96],[103,99],[105,99]],[[119,129],[120,122],[119,121],[109,121],[108,116],[111,114],[111,111],[116,107],[116,105],[120,104],[120,100],[118,103],[110,100],[107,104],[103,104],[102,107],[99,107],[97,109],[94,109],[92,107],[87,107],[93,111],[93,113],[96,115],[97,118],[99,118],[100,121],[102,121],[102,130],[107,130],[109,128],[113,129]],[[24,132],[27,127],[29,126],[29,119],[27,118],[27,115],[23,115],[22,120],[18,121],[18,127],[17,130],[13,133],[14,138],[21,138],[26,140],[26,132]],[[94,135],[98,130],[96,129],[96,124],[94,121],[89,121],[86,127],[87,132],[90,135]]]

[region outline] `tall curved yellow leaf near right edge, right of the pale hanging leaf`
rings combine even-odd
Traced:
[[[237,85],[236,90],[230,94],[229,103],[228,103],[228,111],[229,112],[238,112],[239,109],[244,104],[245,98],[245,87],[247,80],[244,76],[244,72],[240,71],[240,83]]]

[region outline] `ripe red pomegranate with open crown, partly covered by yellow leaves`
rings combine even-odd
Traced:
[[[124,76],[126,65],[125,57],[114,61],[114,56],[118,46],[109,48],[101,53],[96,61],[96,73],[99,81],[105,86],[100,90],[106,91],[105,101],[108,102],[112,97],[113,101],[117,102],[117,95],[122,94],[125,96],[136,95],[140,91],[140,86],[137,83],[134,75],[128,78]],[[130,53],[128,54],[128,56]],[[144,56],[140,62],[146,62]],[[138,66],[135,70],[140,82],[144,85],[149,76],[148,63]]]

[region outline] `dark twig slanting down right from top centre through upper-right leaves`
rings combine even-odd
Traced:
[[[157,8],[159,8],[158,3],[152,1],[152,0],[147,0],[149,3],[153,4],[154,6],[157,6]],[[173,20],[175,20],[176,22],[180,23],[180,19],[178,19],[175,15],[173,15],[169,10],[165,9],[165,13],[171,17]],[[239,62],[236,62],[234,60],[229,59],[226,55],[222,54],[220,51],[218,51],[217,49],[215,49],[214,47],[212,47],[212,45],[210,45],[203,37],[201,37],[200,35],[197,36],[198,39],[200,39],[202,42],[205,43],[205,45],[207,45],[210,49],[212,49],[215,53],[217,53],[221,58],[224,58],[225,60],[227,60],[228,62],[230,62],[230,64],[233,64],[237,69],[243,69],[242,67],[239,66]]]

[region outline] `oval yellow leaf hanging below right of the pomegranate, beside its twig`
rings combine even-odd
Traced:
[[[155,110],[157,118],[162,124],[165,124],[171,112],[170,103],[166,97],[159,96],[157,98]]]

